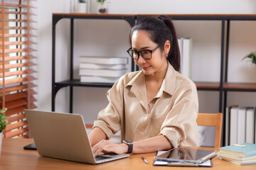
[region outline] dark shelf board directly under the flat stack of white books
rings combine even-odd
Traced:
[[[80,79],[65,80],[55,82],[56,86],[91,86],[91,87],[112,87],[112,83],[86,83],[81,82]]]

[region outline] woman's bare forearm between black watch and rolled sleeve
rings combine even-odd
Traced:
[[[156,152],[159,150],[168,150],[171,148],[172,146],[169,140],[164,135],[159,135],[156,137],[150,137],[146,140],[134,142],[132,154]]]

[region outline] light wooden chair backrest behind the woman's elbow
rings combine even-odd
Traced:
[[[196,119],[198,125],[201,126],[215,126],[215,145],[214,147],[220,147],[221,131],[223,114],[222,113],[198,113],[198,118]]]

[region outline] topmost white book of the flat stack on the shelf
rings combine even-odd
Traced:
[[[87,57],[80,56],[79,62],[94,64],[128,64],[127,57]]]

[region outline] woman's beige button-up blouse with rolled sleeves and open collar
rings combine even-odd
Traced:
[[[110,103],[98,113],[93,128],[102,129],[108,138],[121,130],[121,141],[164,135],[173,147],[198,146],[196,86],[176,72],[171,64],[159,92],[149,105],[142,71],[121,77],[107,91],[107,98]]]

